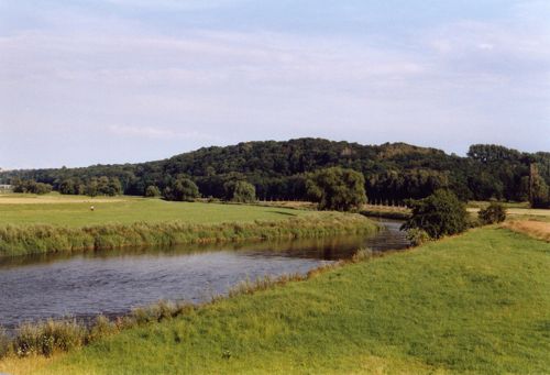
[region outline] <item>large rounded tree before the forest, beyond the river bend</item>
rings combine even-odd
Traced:
[[[366,203],[365,178],[353,169],[332,167],[310,174],[306,189],[321,210],[352,211]]]

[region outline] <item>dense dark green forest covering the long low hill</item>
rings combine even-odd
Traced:
[[[96,194],[143,196],[150,187],[164,190],[178,178],[189,178],[204,197],[223,198],[228,184],[248,181],[255,186],[258,199],[301,200],[307,198],[307,174],[332,166],[361,172],[371,202],[399,203],[448,188],[463,200],[510,201],[532,201],[535,189],[541,196],[540,206],[548,203],[550,153],[481,144],[472,145],[468,156],[461,157],[405,143],[246,142],[140,164],[3,172],[0,184],[20,178],[51,184],[63,194],[82,194],[91,183]]]

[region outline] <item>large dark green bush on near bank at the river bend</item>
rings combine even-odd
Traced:
[[[468,212],[454,194],[437,190],[428,198],[408,202],[411,217],[403,225],[406,230],[420,229],[430,238],[458,234],[468,229]]]

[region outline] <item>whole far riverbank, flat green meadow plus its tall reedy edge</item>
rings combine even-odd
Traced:
[[[12,196],[0,203],[0,256],[372,232],[359,214],[158,199]],[[47,202],[28,203],[26,199]],[[88,198],[89,199],[89,198]],[[95,210],[90,210],[94,205]]]

